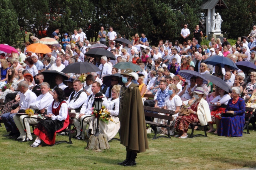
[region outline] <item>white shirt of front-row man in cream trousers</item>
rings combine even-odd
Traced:
[[[32,109],[42,110],[48,109],[48,107],[53,103],[53,96],[47,92],[45,95],[39,95],[36,100],[30,104]]]

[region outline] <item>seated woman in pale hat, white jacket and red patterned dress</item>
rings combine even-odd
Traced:
[[[199,122],[202,126],[211,121],[210,109],[208,103],[203,99],[206,94],[203,88],[196,88],[193,92],[195,100],[189,105],[189,116],[178,116],[175,122],[175,129],[179,132],[175,137],[181,139],[187,138],[188,126],[192,122]]]

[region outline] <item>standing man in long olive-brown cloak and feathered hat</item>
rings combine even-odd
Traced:
[[[137,153],[146,152],[149,148],[148,138],[139,86],[132,82],[139,76],[132,69],[126,69],[121,74],[124,85],[120,90],[120,143],[126,147],[126,159],[118,164],[133,166],[136,165]]]

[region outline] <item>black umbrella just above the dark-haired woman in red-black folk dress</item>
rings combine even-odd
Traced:
[[[45,70],[43,72],[41,72],[42,74],[44,74],[44,82],[48,82],[50,84],[50,88],[53,89],[57,84],[55,83],[55,77],[57,75],[62,75],[63,76],[63,83],[65,84],[66,81],[69,77],[64,74],[61,73],[59,71],[56,70]]]

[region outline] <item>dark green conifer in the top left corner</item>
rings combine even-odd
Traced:
[[[0,43],[14,45],[22,38],[22,32],[9,0],[0,0]]]

